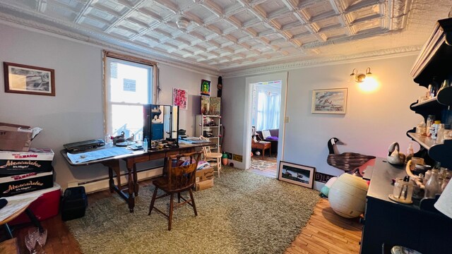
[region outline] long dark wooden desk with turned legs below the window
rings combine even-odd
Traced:
[[[138,178],[136,171],[136,164],[138,162],[149,162],[153,159],[162,159],[168,157],[169,155],[177,155],[179,153],[189,153],[194,152],[196,147],[203,147],[213,145],[213,143],[197,143],[184,145],[179,144],[177,148],[162,148],[159,150],[148,150],[148,152],[143,152],[143,150],[134,151],[131,154],[127,155],[119,155],[115,157],[108,157],[105,159],[96,159],[90,162],[83,162],[80,164],[73,164],[71,159],[67,156],[66,150],[61,150],[61,155],[66,159],[66,162],[71,166],[88,166],[91,164],[100,163],[104,166],[108,167],[108,176],[109,176],[109,190],[111,193],[116,191],[121,198],[124,198],[126,202],[129,204],[130,212],[133,212],[133,207],[135,207],[135,196],[138,196]],[[98,148],[105,149],[105,147]],[[127,174],[128,174],[128,183],[126,186],[121,186],[121,171],[119,167],[119,161],[124,160],[126,162]],[[117,185],[114,185],[113,181],[113,172],[116,174]]]

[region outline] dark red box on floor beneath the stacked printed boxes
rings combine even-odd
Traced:
[[[36,218],[42,221],[57,216],[61,199],[61,186],[58,183],[54,183],[52,188],[36,191],[35,193],[42,195],[33,201],[28,208],[35,214]],[[25,222],[30,222],[30,218],[23,212],[16,219],[8,222],[8,224],[16,225]]]

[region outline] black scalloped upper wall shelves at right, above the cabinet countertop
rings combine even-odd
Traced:
[[[452,18],[438,20],[434,32],[429,37],[427,44],[422,48],[412,68],[411,75],[419,85],[428,87],[434,80],[441,84],[444,80],[452,80]],[[435,116],[441,123],[452,123],[452,87],[446,87],[438,92],[438,95],[424,102],[415,102],[410,109],[427,119],[429,114]],[[421,145],[420,153],[427,155],[436,162],[441,162],[441,167],[452,169],[452,140],[445,140],[444,144],[436,144],[436,140],[408,131],[407,135]]]

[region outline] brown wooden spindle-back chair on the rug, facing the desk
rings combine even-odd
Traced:
[[[184,166],[179,166],[181,157],[189,157],[189,163]],[[177,207],[180,207],[185,204],[189,204],[193,207],[195,212],[195,216],[198,216],[198,212],[196,212],[195,200],[193,198],[193,192],[191,188],[195,184],[196,179],[196,167],[198,167],[199,158],[201,157],[201,152],[192,152],[189,154],[181,154],[181,155],[172,155],[170,157],[165,158],[165,169],[166,175],[160,179],[154,180],[153,184],[155,186],[153,199],[150,201],[149,213],[152,210],[156,210],[163,214],[163,216],[168,219],[168,230],[171,230],[171,222],[172,222],[172,212]],[[173,162],[173,159],[176,159]],[[174,166],[173,166],[174,165]],[[165,194],[162,194],[157,197],[158,189],[165,191]],[[190,199],[186,200],[184,197],[181,197],[181,193],[184,191],[189,191]],[[173,198],[174,194],[177,193],[178,203],[174,205]],[[157,207],[154,207],[155,200],[159,198],[164,198],[166,196],[170,196],[169,198],[169,213],[166,214],[162,212]],[[181,199],[184,202],[181,202]]]

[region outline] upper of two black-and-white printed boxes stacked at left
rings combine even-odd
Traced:
[[[0,177],[52,171],[54,152],[49,148],[30,148],[28,152],[0,151]]]

